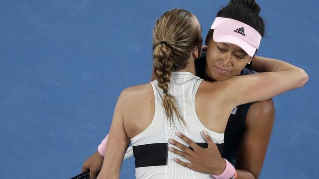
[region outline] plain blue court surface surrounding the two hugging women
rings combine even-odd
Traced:
[[[319,2],[258,0],[258,55],[302,67],[309,82],[274,98],[261,179],[318,177]],[[0,0],[0,178],[68,179],[109,130],[121,90],[147,83],[152,29],[185,8],[205,38],[226,0]],[[122,179],[134,178],[134,159]]]

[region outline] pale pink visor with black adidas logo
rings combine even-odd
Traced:
[[[213,40],[238,45],[249,56],[254,56],[262,36],[253,27],[229,18],[216,18],[211,29],[214,29]]]

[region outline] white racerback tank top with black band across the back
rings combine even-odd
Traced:
[[[203,79],[190,72],[172,72],[171,75],[168,92],[175,97],[188,128],[180,122],[175,113],[172,120],[175,122],[169,123],[162,106],[162,89],[158,87],[157,80],[151,82],[155,96],[153,121],[143,132],[131,138],[136,179],[211,179],[208,174],[195,172],[176,163],[174,158],[189,161],[168,151],[169,147],[173,147],[168,143],[168,139],[187,145],[176,135],[177,132],[186,134],[192,141],[200,143],[201,146],[206,144],[207,147],[205,139],[200,134],[205,130],[217,146],[223,144],[224,133],[210,131],[197,117],[195,95],[202,81]]]

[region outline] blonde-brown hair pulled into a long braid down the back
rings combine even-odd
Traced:
[[[194,16],[184,9],[164,13],[153,31],[154,74],[163,90],[163,107],[168,120],[173,113],[186,125],[176,105],[176,99],[168,92],[171,71],[184,69],[196,46],[201,45],[200,28],[193,22]],[[175,122],[175,121],[173,121]]]

